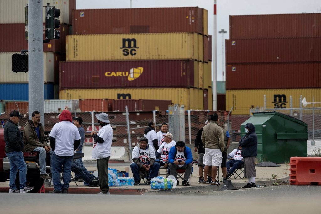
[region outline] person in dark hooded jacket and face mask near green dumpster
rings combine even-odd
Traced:
[[[242,188],[252,188],[256,187],[255,157],[257,155],[257,136],[253,123],[247,123],[244,127],[246,134],[240,140],[239,146],[242,147],[241,155],[244,161],[244,177],[247,177],[248,183]]]

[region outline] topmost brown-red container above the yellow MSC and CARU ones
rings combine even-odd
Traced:
[[[203,10],[198,7],[74,10],[72,24],[73,34],[204,34]]]

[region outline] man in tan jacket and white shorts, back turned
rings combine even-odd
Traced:
[[[212,166],[212,175],[215,176],[218,167],[222,163],[222,152],[224,151],[224,133],[221,126],[217,123],[218,116],[216,113],[210,117],[210,122],[206,124],[202,132],[202,142],[205,147],[205,155],[203,159],[204,163],[204,181],[203,184],[216,184],[219,185],[218,181],[212,181],[206,179],[206,175],[209,172],[210,166]]]

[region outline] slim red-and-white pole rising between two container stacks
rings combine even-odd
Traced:
[[[213,73],[212,73],[212,77],[213,77],[213,86],[212,86],[212,96],[213,96],[213,111],[217,111],[217,84],[216,84],[216,69],[217,69],[217,58],[216,58],[216,0],[214,0],[214,33],[213,33],[213,49],[214,49],[214,53],[213,53]]]

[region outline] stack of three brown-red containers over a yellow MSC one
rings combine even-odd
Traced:
[[[226,109],[293,107],[321,93],[321,14],[230,16]]]

